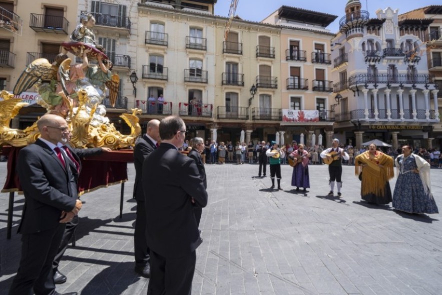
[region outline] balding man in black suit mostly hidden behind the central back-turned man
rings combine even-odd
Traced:
[[[146,156],[154,151],[160,141],[160,121],[150,120],[147,123],[146,134],[138,138],[134,148],[135,184],[134,198],[137,200],[137,219],[135,220],[134,252],[135,271],[144,277],[149,277],[149,246],[146,242],[146,210],[144,208],[144,192],[142,185],[142,169]]]

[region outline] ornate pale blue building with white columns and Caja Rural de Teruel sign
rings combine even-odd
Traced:
[[[335,136],[347,144],[378,138],[431,147],[439,122],[436,84],[420,56],[432,19],[399,20],[398,10],[378,9],[376,17],[349,0],[332,40]]]

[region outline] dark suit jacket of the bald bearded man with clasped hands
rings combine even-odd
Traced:
[[[75,153],[73,156],[78,158]],[[74,209],[78,193],[69,183],[68,171],[43,140],[37,139],[20,150],[17,173],[25,194],[19,232],[55,228],[62,211]]]

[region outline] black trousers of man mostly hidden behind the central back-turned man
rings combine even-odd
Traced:
[[[146,208],[144,201],[137,200],[137,218],[134,232],[135,263],[145,266],[149,263],[149,246],[146,242]]]

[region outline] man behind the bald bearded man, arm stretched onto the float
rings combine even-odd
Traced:
[[[72,175],[75,178],[75,183],[78,184],[78,177],[81,171],[81,161],[80,158],[88,157],[96,154],[100,154],[103,151],[111,151],[109,147],[95,147],[95,148],[75,148],[72,147],[68,141],[71,137],[71,133],[69,132],[67,136],[67,142],[59,142],[59,146],[63,148],[65,158],[69,163],[68,167],[70,168]],[[72,158],[72,159],[71,159]],[[68,248],[69,241],[72,239],[75,229],[77,228],[79,223],[78,215],[75,215],[71,221],[66,223],[65,232],[63,233],[62,242],[60,243],[59,249],[57,250],[57,254],[55,255],[54,261],[52,263],[52,268],[54,271],[54,282],[56,284],[64,283],[67,281],[66,275],[61,273],[58,270],[60,260],[63,257],[66,249]]]

